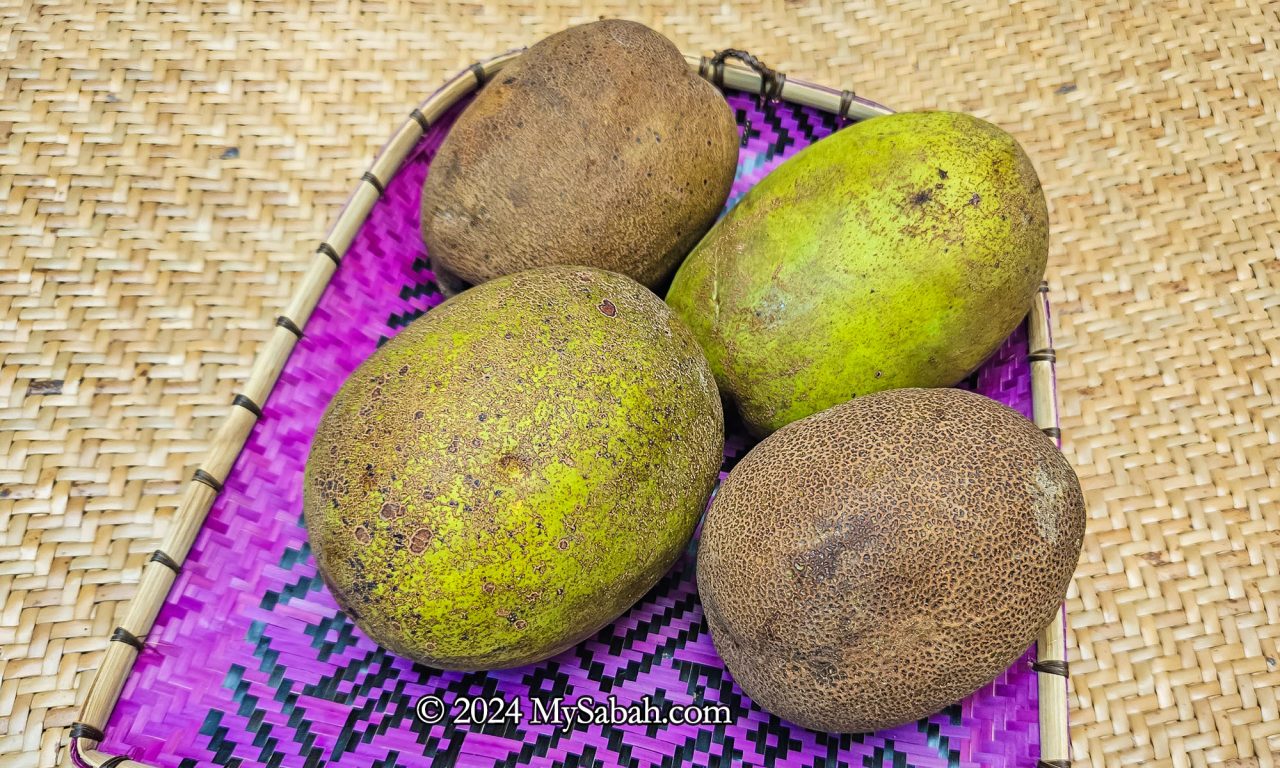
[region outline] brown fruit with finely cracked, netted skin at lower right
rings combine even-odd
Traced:
[[[722,485],[698,549],[716,649],[764,709],[887,728],[986,685],[1061,607],[1084,536],[1070,465],[959,389],[791,424]]]

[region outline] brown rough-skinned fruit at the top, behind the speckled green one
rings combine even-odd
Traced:
[[[422,187],[433,264],[483,283],[585,264],[655,287],[737,166],[724,97],[666,37],[608,19],[538,42],[476,96]]]

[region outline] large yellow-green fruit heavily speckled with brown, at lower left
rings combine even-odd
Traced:
[[[648,289],[573,266],[497,278],[334,397],[307,461],[311,547],[390,650],[447,669],[538,662],[671,567],[723,442],[707,361]]]

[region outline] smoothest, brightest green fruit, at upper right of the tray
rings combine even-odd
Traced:
[[[882,389],[964,379],[1030,307],[1044,195],[969,115],[858,123],[756,184],[667,294],[748,428],[768,434]]]

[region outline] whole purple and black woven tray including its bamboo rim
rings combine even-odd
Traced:
[[[301,476],[329,398],[383,340],[443,301],[419,237],[430,160],[470,96],[518,51],[451,79],[392,137],[321,242],[195,472],[175,522],[70,728],[79,765],[1069,764],[1061,614],[963,703],[891,731],[805,731],[750,703],[716,657],[691,558],[593,640],[543,664],[439,672],[378,648],[324,590],[301,525]],[[742,133],[732,205],[803,146],[888,110],[850,91],[687,58]],[[306,332],[303,334],[303,330]],[[1057,438],[1048,302],[1039,297],[965,387]],[[728,435],[727,471],[749,443]],[[722,474],[723,476],[723,474]],[[692,549],[694,545],[691,545]],[[428,726],[420,696],[641,695],[719,704],[716,726]]]

